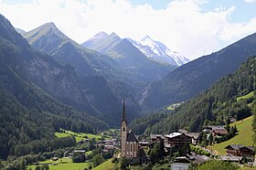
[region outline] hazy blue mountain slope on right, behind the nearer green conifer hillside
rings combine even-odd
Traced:
[[[151,84],[144,91],[141,104],[147,109],[157,109],[187,101],[221,77],[233,73],[247,58],[256,55],[255,47],[256,34],[252,34],[218,52],[197,58]]]

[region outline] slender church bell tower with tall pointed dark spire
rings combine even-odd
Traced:
[[[122,113],[122,122],[121,122],[121,157],[126,156],[126,140],[127,140],[127,120],[126,120],[126,111],[125,103],[123,100],[123,113]]]

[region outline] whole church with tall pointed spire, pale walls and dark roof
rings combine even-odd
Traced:
[[[139,143],[132,130],[128,131],[125,103],[123,100],[123,113],[121,122],[121,157],[129,159],[138,158]]]

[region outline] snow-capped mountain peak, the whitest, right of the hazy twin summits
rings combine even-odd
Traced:
[[[163,43],[153,40],[151,37],[146,36],[140,41],[135,41],[131,38],[127,38],[133,43],[133,46],[139,48],[145,56],[153,58],[161,63],[168,63],[174,66],[181,66],[189,62],[189,59],[183,55],[172,51],[167,48]]]

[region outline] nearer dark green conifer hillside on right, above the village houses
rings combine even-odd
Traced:
[[[170,133],[179,128],[192,132],[199,131],[203,125],[225,124],[229,119],[248,117],[255,112],[256,94],[250,98],[237,100],[256,88],[256,58],[251,57],[234,74],[219,80],[210,89],[185,102],[168,118],[155,123],[151,133]],[[253,93],[253,92],[252,92]],[[134,121],[133,128],[144,123],[144,118]]]

